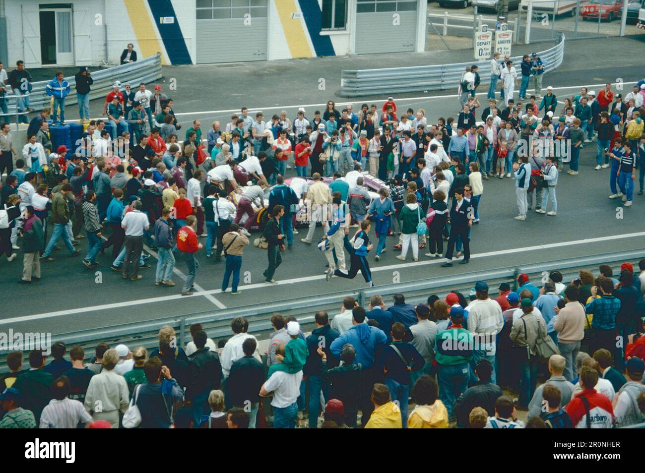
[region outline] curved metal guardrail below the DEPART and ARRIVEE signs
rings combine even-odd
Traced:
[[[546,60],[547,71],[557,68],[564,59],[564,34],[559,34],[555,46],[538,54]],[[514,64],[519,64],[522,61],[521,56],[511,59]],[[340,95],[341,97],[362,97],[364,95],[426,92],[450,88],[456,90],[466,66],[473,64],[479,66],[478,72],[482,84],[490,82],[490,61],[388,69],[342,70]]]

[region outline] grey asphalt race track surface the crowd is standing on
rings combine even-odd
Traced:
[[[606,41],[613,41],[613,39]],[[623,41],[639,43],[636,40],[623,39]],[[581,42],[573,44],[579,43]],[[610,60],[606,59],[606,61]],[[578,68],[575,73],[555,72],[548,77],[548,80],[545,79],[543,86],[553,85],[556,88],[556,95],[564,97],[577,92],[582,85],[602,84],[604,81],[616,82],[616,77],[621,77],[624,82],[642,78],[641,66],[628,65],[628,61],[624,61],[622,57],[617,58],[615,62],[619,65],[613,68],[602,67],[593,70]],[[192,67],[195,68],[195,66]],[[626,83],[624,93],[628,90],[630,85]],[[301,106],[300,104],[305,104],[306,107],[312,105],[307,107],[309,111],[313,110],[313,106],[322,104],[326,100],[323,94],[304,97],[302,100],[302,94],[301,91],[293,94],[281,92],[279,96],[281,102],[274,106],[273,110],[288,110],[291,115],[292,112],[295,113],[297,106]],[[328,93],[326,97],[329,95]],[[189,97],[186,97],[186,102],[194,101],[194,98]],[[273,99],[277,100],[276,97],[257,91],[247,95],[244,100],[247,101],[249,108],[252,108],[253,104],[264,107],[264,113],[267,115],[267,111],[272,111],[269,105]],[[219,99],[213,99],[208,103],[203,101],[199,108],[197,106],[188,108],[187,105],[186,109],[193,111],[179,113],[185,113],[181,115],[182,121],[190,123],[192,119],[199,118],[206,128],[206,124],[215,117],[221,117],[223,124],[226,123],[230,117],[228,110],[233,110],[233,103],[239,104],[240,100],[239,97],[226,96],[222,97],[221,101]],[[455,115],[458,110],[457,98],[446,93],[434,93],[422,97],[410,94],[410,97],[397,98],[397,100],[401,101],[399,105],[401,107],[407,108],[409,105],[412,108],[426,108],[429,122],[435,122],[440,115]],[[485,95],[480,96],[480,101],[482,106],[486,105]],[[355,109],[361,102],[353,101],[357,104]],[[372,102],[372,99],[368,102]],[[207,107],[210,103],[216,103],[217,110],[215,107],[210,110]],[[380,106],[381,101],[377,104]],[[97,108],[97,102],[92,104],[92,109],[94,108]],[[199,112],[203,108],[208,108],[204,111],[206,113]],[[184,110],[184,107],[181,110]],[[396,239],[390,237],[388,251],[382,255],[380,262],[375,262],[370,255],[375,285],[392,284],[394,277],[399,277],[404,282],[645,247],[645,220],[642,218],[645,197],[635,195],[633,206],[624,208],[623,218],[617,218],[619,202],[607,198],[610,193],[609,171],[608,169],[593,170],[594,157],[595,142],[588,144],[587,148],[582,150],[581,169],[578,176],[561,174],[557,188],[558,215],[556,217],[532,212],[525,222],[513,220],[517,215],[513,179],[485,181],[480,208],[481,224],[473,227],[471,236],[473,255],[470,264],[466,266],[455,264],[452,268],[440,268],[439,264],[442,260],[430,260],[423,256],[427,249],[420,250],[419,262],[412,262],[410,253],[408,253],[408,260],[401,262],[395,259],[399,252],[392,249]],[[638,189],[637,183],[635,183],[635,189]],[[153,266],[141,273],[144,276],[142,280],[126,282],[119,273],[110,269],[110,256],[99,255],[97,261],[100,266],[91,271],[81,264],[80,258],[70,257],[65,249],[61,249],[54,253],[55,262],[41,265],[43,272],[41,281],[26,286],[17,284],[22,269],[21,255],[12,263],[1,258],[0,298],[9,303],[5,304],[5,310],[0,313],[0,331],[13,328],[14,331],[68,333],[79,329],[109,327],[117,323],[199,313],[224,307],[252,306],[299,297],[317,298],[346,288],[364,287],[361,275],[357,275],[355,280],[332,278],[330,282],[326,282],[323,275],[326,259],[315,247],[299,241],[299,238],[304,237],[304,233],[306,232],[301,230],[299,235],[295,235],[293,250],[286,250],[283,253],[283,264],[275,274],[275,279],[279,281],[278,285],[263,284],[261,273],[266,268],[266,252],[252,246],[248,247],[243,259],[243,282],[240,285],[242,293],[237,296],[221,293],[219,287],[221,287],[224,262],[216,264],[207,259],[203,251],[197,256],[200,263],[195,281],[199,285],[198,293],[190,297],[181,296],[181,276],[183,275],[180,273],[186,271],[181,260],[177,261],[173,278],[177,285],[175,287],[155,286],[154,257],[148,260]],[[321,235],[322,230],[318,228],[314,239]],[[201,241],[205,243],[205,239]],[[86,242],[84,238],[77,247],[83,255],[86,253]],[[63,247],[62,242],[59,246]],[[97,271],[100,273],[97,274]],[[100,283],[97,282],[99,280]]]

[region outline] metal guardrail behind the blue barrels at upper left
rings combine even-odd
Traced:
[[[141,82],[147,83],[161,79],[161,53],[146,57],[141,59],[141,61],[136,61],[135,63],[121,64],[121,66],[99,69],[92,72],[92,79],[94,79],[94,84],[91,86],[92,90],[90,90],[90,100],[105,97],[108,92],[112,90],[112,84],[114,84],[115,81],[120,81],[121,84],[129,83],[132,86],[132,90],[138,90]],[[49,81],[32,82],[32,90],[29,93],[29,102],[30,107],[34,110],[39,111],[50,105],[51,97],[48,97],[45,93],[45,86],[51,80],[52,79]],[[74,76],[65,77],[65,80],[70,84],[70,93],[65,99],[65,106],[68,107],[77,103],[74,89],[76,81]],[[9,89],[10,88],[8,88],[8,90]],[[121,90],[124,89],[121,88]],[[11,93],[7,94],[5,99],[9,97],[17,98],[13,93]],[[15,103],[8,105],[8,109],[10,112],[14,112],[13,114],[15,114]]]

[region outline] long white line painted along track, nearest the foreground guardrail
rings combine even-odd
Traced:
[[[597,242],[606,242],[608,240],[622,240],[624,238],[635,238],[635,237],[645,237],[645,231],[640,231],[640,232],[636,232],[636,233],[624,233],[624,234],[621,234],[621,235],[607,235],[606,237],[584,238],[582,240],[571,240],[571,241],[568,241],[568,242],[555,242],[555,243],[544,244],[544,245],[535,245],[535,246],[528,246],[528,247],[510,248],[510,249],[504,249],[504,250],[499,250],[499,251],[488,251],[486,253],[478,253],[476,255],[471,255],[470,258],[471,259],[473,259],[473,258],[488,258],[490,256],[510,255],[511,253],[524,253],[524,252],[527,252],[527,251],[539,251],[539,250],[542,250],[542,249],[560,248],[560,247],[563,247],[563,246],[584,245],[584,244],[597,243]],[[377,273],[379,271],[391,271],[392,269],[405,269],[405,268],[408,268],[408,267],[440,264],[440,263],[442,263],[444,261],[445,261],[444,258],[433,258],[432,260],[426,260],[426,261],[419,261],[419,262],[411,261],[411,262],[408,262],[408,263],[392,264],[392,265],[372,268],[372,273]],[[450,276],[450,275],[446,275],[446,276]],[[300,282],[323,280],[324,278],[325,278],[324,275],[306,276],[304,278],[293,278],[293,279],[286,279],[286,280],[278,281],[277,284],[275,284],[275,285],[297,284],[297,283],[300,283]],[[249,285],[245,285],[245,286],[239,286],[238,290],[239,291],[248,291],[249,289],[257,289],[257,288],[260,288],[260,287],[267,288],[267,287],[273,287],[273,285],[268,285],[268,284],[264,284],[264,283],[249,284]],[[199,291],[199,292],[196,292],[194,295],[196,295],[196,296],[206,296],[206,294],[221,294],[221,293],[222,293],[221,289],[212,289],[210,291]],[[77,309],[66,309],[66,310],[63,310],[63,311],[47,312],[47,313],[34,314],[34,315],[25,315],[25,316],[19,316],[19,317],[7,318],[5,320],[0,320],[0,325],[5,325],[7,323],[27,322],[27,321],[30,321],[30,320],[39,320],[39,319],[43,319],[43,318],[51,318],[51,317],[56,317],[56,316],[80,314],[80,313],[94,312],[94,311],[104,311],[104,310],[107,310],[107,309],[119,309],[121,307],[129,307],[129,306],[133,306],[133,305],[154,304],[154,303],[157,303],[157,302],[165,302],[165,301],[169,301],[169,300],[186,299],[187,297],[190,297],[190,296],[181,296],[181,294],[174,294],[172,296],[152,297],[152,298],[139,299],[139,300],[115,302],[114,304],[94,305],[92,307],[79,307]],[[222,308],[225,308],[225,307],[222,307]]]

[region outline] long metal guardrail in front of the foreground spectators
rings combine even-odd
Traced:
[[[631,262],[637,267],[637,263],[644,256],[645,248],[604,255],[570,258],[567,260],[544,262],[521,267],[502,267],[464,275],[441,276],[410,282],[400,282],[370,289],[339,291],[324,294],[317,298],[295,298],[268,304],[247,305],[234,309],[217,309],[184,316],[164,317],[147,320],[145,322],[124,323],[110,327],[76,331],[74,333],[55,334],[52,336],[52,342],[61,341],[66,343],[68,347],[81,345],[88,358],[93,356],[96,345],[101,342],[106,342],[110,346],[125,343],[131,349],[137,346],[143,346],[150,351],[150,349],[157,347],[157,334],[159,328],[163,325],[174,327],[175,331],[177,331],[177,340],[181,343],[181,346],[185,346],[191,340],[190,331],[188,331],[190,324],[201,323],[204,331],[208,333],[210,338],[219,340],[232,335],[230,322],[237,316],[246,317],[249,322],[249,333],[255,335],[258,340],[264,340],[269,338],[272,332],[269,319],[273,313],[281,313],[284,316],[295,316],[301,322],[303,332],[306,332],[313,329],[313,315],[317,311],[327,311],[330,316],[335,315],[340,310],[342,300],[345,296],[353,296],[359,301],[359,304],[366,306],[369,304],[371,296],[381,294],[384,300],[388,301],[386,304],[389,305],[391,299],[387,296],[401,293],[406,297],[408,304],[425,304],[430,294],[437,294],[443,298],[450,291],[457,290],[467,296],[470,288],[473,287],[477,280],[486,281],[490,287],[491,296],[495,296],[499,293],[497,288],[502,282],[508,282],[511,288],[515,289],[517,287],[517,276],[521,273],[528,274],[536,285],[542,285],[541,281],[545,275],[548,277],[548,271],[558,269],[561,271],[562,276],[564,276],[563,282],[569,283],[577,278],[580,269],[597,270],[600,264],[608,264],[616,273],[619,273],[620,264],[623,262]],[[546,279],[544,281],[546,282]],[[7,371],[5,363],[7,354],[7,351],[0,352],[0,374]]]

